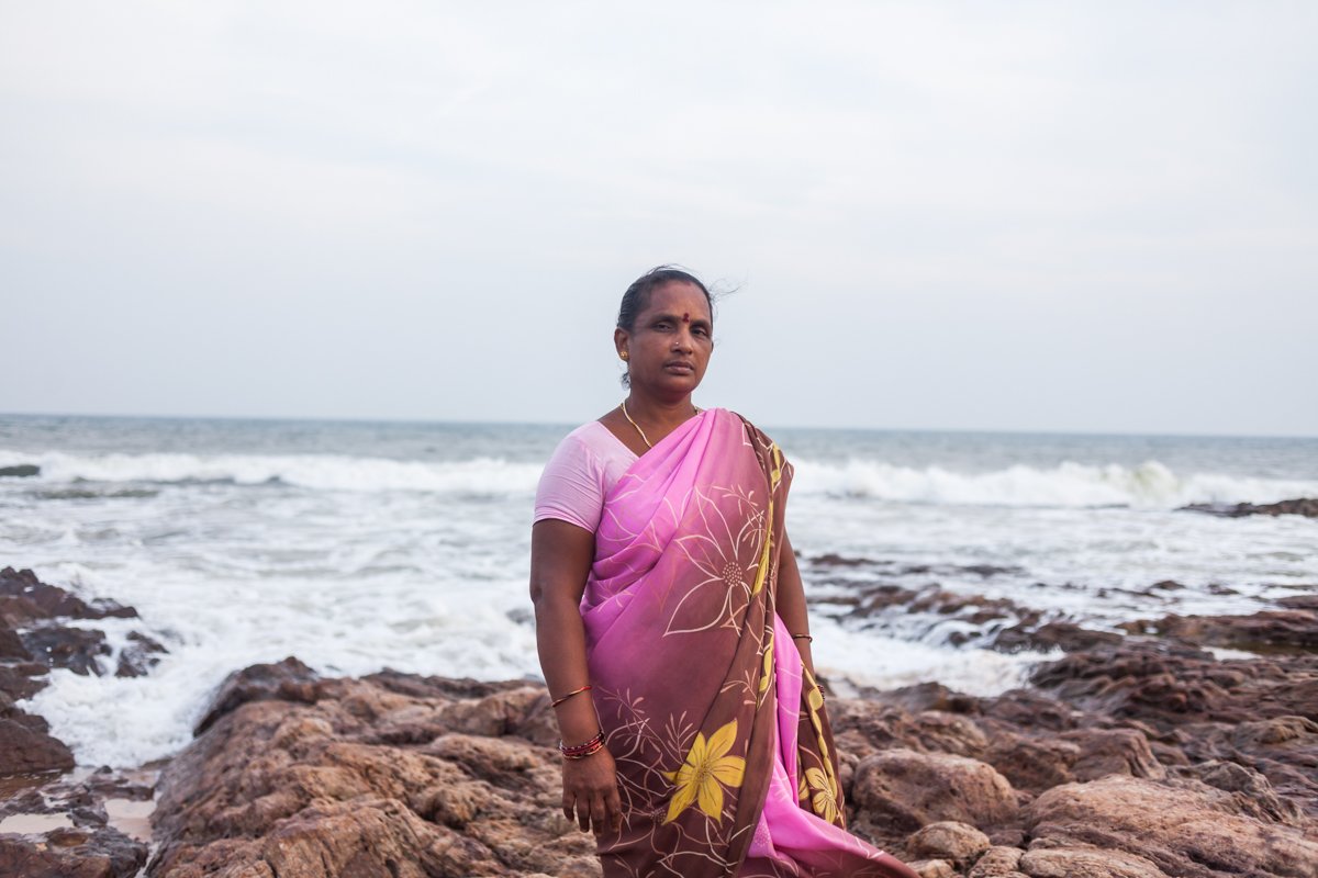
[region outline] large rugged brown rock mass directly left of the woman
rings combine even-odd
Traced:
[[[231,683],[161,778],[154,878],[600,874],[558,810],[558,754],[514,737],[539,729],[543,687],[457,698],[295,661]]]

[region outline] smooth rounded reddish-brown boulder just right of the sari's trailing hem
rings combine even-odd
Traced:
[[[982,828],[1011,820],[1017,810],[1011,783],[991,765],[905,749],[863,760],[851,795],[869,824],[904,832],[944,820]]]

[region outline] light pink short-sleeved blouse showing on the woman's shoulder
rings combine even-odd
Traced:
[[[604,498],[637,461],[635,453],[600,421],[559,442],[535,490],[535,520],[560,519],[594,533]]]

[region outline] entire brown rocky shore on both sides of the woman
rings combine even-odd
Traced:
[[[95,637],[34,650],[49,642],[34,632],[132,611],[63,603],[26,571],[0,584],[0,728],[13,736],[0,875],[600,874],[590,837],[558,811],[548,696],[525,681],[322,678],[287,658],[231,675],[158,779],[61,774],[67,748],[13,700],[47,667],[90,656],[96,673],[109,656]],[[1011,624],[995,648],[1065,650],[995,698],[931,683],[829,699],[851,829],[923,875],[1318,878],[1318,596],[1126,633],[933,590],[857,599],[998,613]],[[153,796],[149,848],[107,803]]]

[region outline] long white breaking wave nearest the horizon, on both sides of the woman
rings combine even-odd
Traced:
[[[423,491],[464,496],[529,496],[539,463],[500,457],[465,461],[395,461],[333,454],[45,454],[0,450],[0,466],[41,466],[22,483],[231,483],[287,484],[324,491]],[[842,496],[894,503],[1012,507],[1176,508],[1189,503],[1271,503],[1318,496],[1318,482],[1261,479],[1220,473],[1177,474],[1159,461],[1137,466],[1065,462],[985,473],[940,466],[908,467],[874,459],[845,463],[796,459],[795,495]],[[16,479],[14,483],[18,483]],[[79,488],[84,490],[84,488]]]

